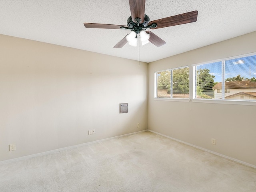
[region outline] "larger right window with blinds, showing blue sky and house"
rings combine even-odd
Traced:
[[[194,98],[256,101],[256,55],[195,65]]]

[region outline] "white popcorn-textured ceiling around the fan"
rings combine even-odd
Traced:
[[[166,44],[113,47],[130,31],[85,28],[126,25],[128,0],[0,0],[0,34],[152,62],[256,31],[256,0],[146,0],[150,20],[198,10],[198,20],[151,30]]]

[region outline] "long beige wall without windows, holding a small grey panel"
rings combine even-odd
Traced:
[[[4,35],[0,42],[0,161],[148,128],[148,64]]]

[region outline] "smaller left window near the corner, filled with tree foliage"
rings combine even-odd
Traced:
[[[156,72],[157,98],[189,98],[189,67]]]

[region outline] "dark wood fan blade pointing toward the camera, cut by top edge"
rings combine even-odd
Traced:
[[[146,0],[129,0],[132,21],[136,23],[135,18],[140,18],[141,23],[145,17],[145,2]]]

